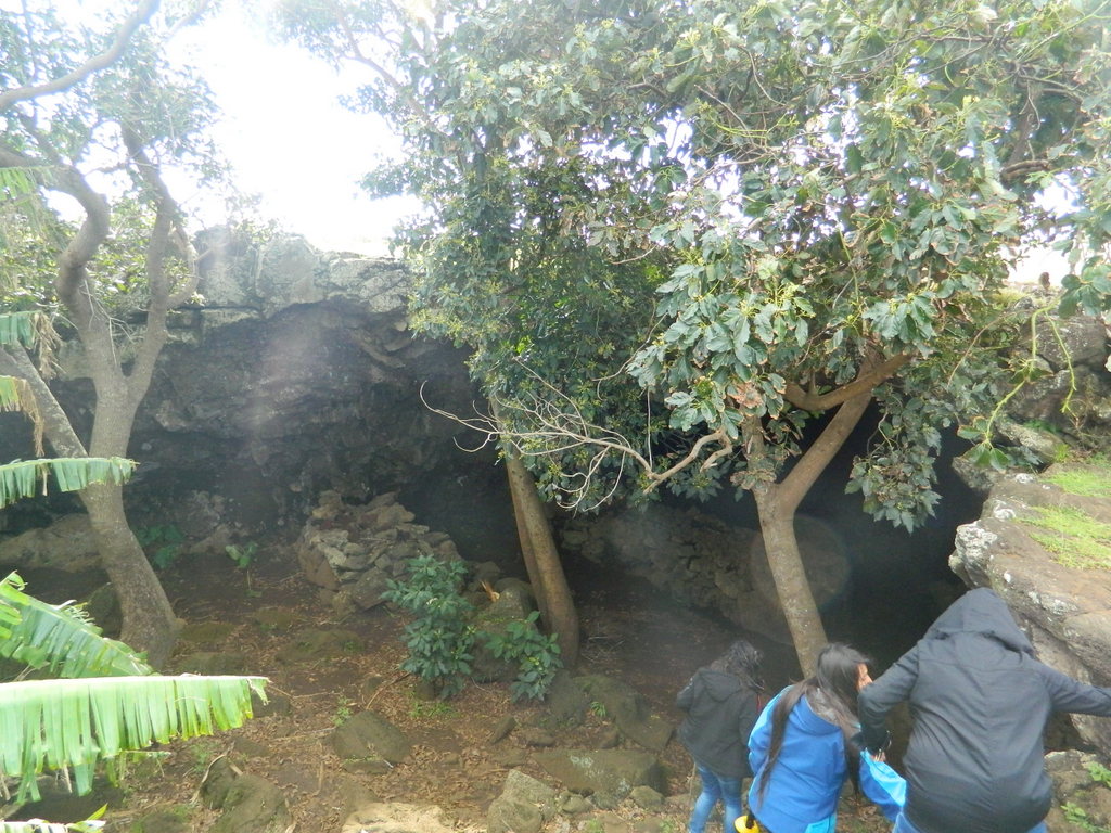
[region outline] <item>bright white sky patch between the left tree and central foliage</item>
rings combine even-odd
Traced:
[[[341,80],[304,50],[268,42],[239,2],[179,37],[222,110],[214,139],[239,189],[261,195],[262,217],[320,249],[386,254],[393,224],[416,202],[371,200],[358,185],[376,155],[399,147],[380,120],[338,102],[360,79]]]

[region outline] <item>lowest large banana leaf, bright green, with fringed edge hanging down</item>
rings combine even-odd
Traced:
[[[183,674],[0,684],[0,777],[20,779],[17,801],[34,801],[36,776],[68,766],[88,793],[97,764],[121,752],[242,725],[266,683]]]

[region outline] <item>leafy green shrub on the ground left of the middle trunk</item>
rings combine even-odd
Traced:
[[[409,579],[388,582],[382,599],[413,614],[406,625],[408,671],[432,683],[442,699],[462,690],[474,659],[474,606],[459,594],[467,565],[418,555],[406,562]]]

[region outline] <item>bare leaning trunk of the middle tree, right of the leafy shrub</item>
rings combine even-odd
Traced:
[[[571,668],[579,660],[579,614],[571,599],[567,576],[563,574],[559,551],[552,540],[551,525],[544,515],[536,482],[518,456],[506,454],[506,472],[513,494],[513,511],[517,515],[521,549],[526,553],[531,552],[539,579],[539,586],[536,586],[537,580],[530,572],[529,578],[533,581],[533,590],[537,593],[537,606],[540,608],[541,615],[547,608],[544,624],[550,632],[557,634],[563,664]],[[543,602],[540,601],[541,595],[544,598]]]

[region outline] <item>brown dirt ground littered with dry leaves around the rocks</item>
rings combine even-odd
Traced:
[[[93,809],[109,803],[110,833],[152,833],[154,826],[161,827],[158,833],[209,831],[218,816],[199,801],[199,787],[211,762],[224,754],[242,771],[281,787],[296,833],[339,833],[352,809],[372,800],[436,804],[459,826],[484,829],[487,809],[511,769],[548,780],[531,763],[521,732],[497,744],[488,740],[504,715],[513,715],[519,726],[529,725],[541,705],[510,702],[508,686],[501,684],[471,683],[447,702],[418,699],[417,681],[399,670],[403,619],[384,608],[337,619],[301,578],[287,548],[268,548],[246,570],[229,559],[183,559],[162,579],[174,610],[189,623],[169,671],[188,668],[199,652],[241,662],[242,672],[269,678],[274,713],[216,737],[173,743],[157,763],[132,766],[118,790],[87,803]],[[675,692],[738,635],[634,581],[599,585],[580,592],[577,601],[583,643],[574,672],[622,679],[677,725],[682,715],[674,709]],[[304,629],[343,629],[350,635],[338,652],[291,659],[290,649]],[[781,646],[762,648],[769,688],[789,682],[789,654]],[[392,721],[414,744],[410,760],[386,774],[346,772],[328,744],[338,724],[364,709]],[[609,731],[602,717],[591,714],[583,726],[556,741],[559,746],[594,749]],[[691,803],[691,760],[674,740],[661,760],[671,797],[652,817],[670,822],[678,833],[685,830]],[[160,815],[152,815],[158,811]],[[645,816],[629,802],[613,812],[627,819],[630,829]],[[156,817],[161,821],[152,825]],[[585,821],[562,824],[563,831],[592,830]],[[839,830],[885,833],[889,826],[874,809],[849,796]]]

